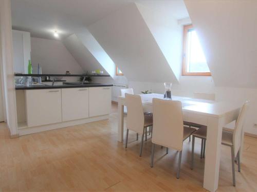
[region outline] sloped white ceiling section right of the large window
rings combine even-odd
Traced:
[[[215,86],[257,88],[257,1],[185,0]]]

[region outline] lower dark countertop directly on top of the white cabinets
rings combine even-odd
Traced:
[[[111,87],[113,84],[64,84],[62,86],[15,86],[15,90],[34,90],[34,89],[64,89],[64,88],[91,88],[91,87]]]

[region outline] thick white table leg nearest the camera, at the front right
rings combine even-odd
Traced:
[[[204,188],[211,192],[218,188],[223,121],[223,118],[208,118]]]

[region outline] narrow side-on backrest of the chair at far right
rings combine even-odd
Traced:
[[[246,101],[242,106],[238,118],[235,123],[235,129],[233,133],[233,145],[234,145],[234,154],[236,155],[238,150],[240,150],[242,136],[243,136],[243,126],[246,117],[246,112],[248,110],[249,102]]]

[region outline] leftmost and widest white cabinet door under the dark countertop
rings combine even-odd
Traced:
[[[25,102],[28,127],[62,121],[61,89],[26,90]]]

